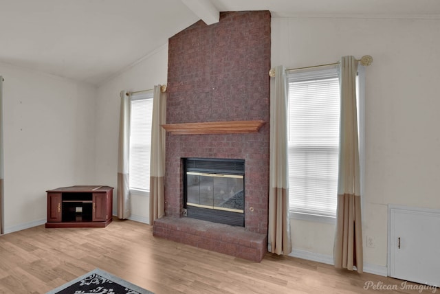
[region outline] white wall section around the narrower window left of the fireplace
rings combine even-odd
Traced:
[[[98,87],[96,100],[96,179],[115,188],[113,213],[116,212],[118,172],[118,133],[120,91],[153,89],[155,84],[166,84],[168,76],[168,44],[159,47],[142,62]],[[131,217],[148,223],[149,199],[131,195]]]

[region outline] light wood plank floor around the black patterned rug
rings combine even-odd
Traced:
[[[0,293],[45,293],[100,268],[160,293],[419,293],[400,280],[267,254],[261,263],[155,238],[152,227],[45,229],[0,236]],[[366,282],[382,290],[364,290]],[[393,287],[390,291],[384,287]],[[423,290],[422,293],[432,293]]]

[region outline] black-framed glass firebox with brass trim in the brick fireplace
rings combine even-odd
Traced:
[[[186,216],[244,227],[244,177],[243,159],[184,159]]]

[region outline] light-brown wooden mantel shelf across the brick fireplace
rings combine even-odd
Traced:
[[[241,120],[230,122],[190,122],[186,124],[162,124],[173,135],[195,134],[243,134],[258,133],[263,120]]]

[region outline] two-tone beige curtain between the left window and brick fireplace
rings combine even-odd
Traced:
[[[150,225],[164,216],[166,93],[157,85],[153,91],[153,122],[151,124],[150,161]]]

